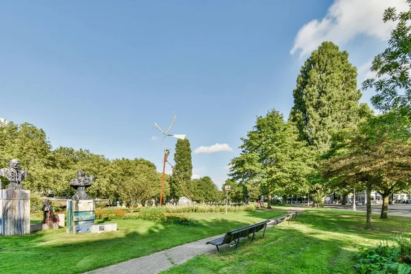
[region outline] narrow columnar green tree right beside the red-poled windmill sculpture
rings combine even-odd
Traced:
[[[178,139],[174,153],[175,167],[171,180],[170,195],[177,198],[184,195],[178,184],[185,184],[192,176],[191,147],[188,139]]]

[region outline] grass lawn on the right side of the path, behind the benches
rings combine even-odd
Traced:
[[[353,255],[360,247],[410,235],[410,218],[378,217],[373,215],[373,229],[366,230],[363,212],[306,210],[290,225],[271,227],[264,238],[245,240],[237,251],[198,256],[164,273],[357,273]]]

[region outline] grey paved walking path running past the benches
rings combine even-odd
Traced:
[[[294,210],[293,212],[301,212],[301,209]],[[275,219],[271,219],[271,222],[267,224],[267,229],[273,225],[277,225],[278,219],[284,219],[284,214],[278,216]],[[155,274],[161,271],[170,269],[178,264],[183,264],[188,260],[199,256],[204,253],[211,253],[216,251],[214,245],[206,245],[206,242],[214,240],[216,238],[222,237],[225,234],[218,236],[212,236],[203,240],[197,240],[197,242],[189,242],[185,245],[180,245],[178,247],[173,247],[172,249],[167,249],[157,253],[153,253],[148,256],[128,260],[126,262],[121,262],[119,264],[113,264],[112,266],[107,266],[102,269],[96,269],[90,271],[90,274],[111,274],[111,273],[121,273],[121,274]],[[247,238],[242,238],[245,240]],[[220,248],[226,248],[229,245],[223,245]]]

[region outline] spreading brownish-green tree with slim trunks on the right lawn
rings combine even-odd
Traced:
[[[411,181],[411,136],[406,133],[409,119],[393,113],[360,123],[350,138],[328,153],[321,165],[323,178],[329,179],[334,187],[367,185],[385,197],[381,218],[388,214],[388,196],[407,189]],[[371,209],[369,217],[371,221]]]

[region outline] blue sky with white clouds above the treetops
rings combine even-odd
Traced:
[[[189,138],[195,177],[221,186],[256,115],[288,117],[299,68],[323,40],[349,51],[360,86],[386,47],[389,5],[406,9],[405,0],[0,1],[0,117],[45,129],[53,147],[160,170],[151,125],[168,127],[174,111],[171,133]]]

